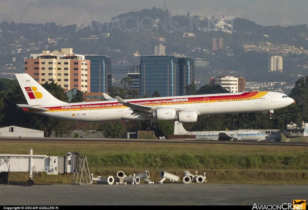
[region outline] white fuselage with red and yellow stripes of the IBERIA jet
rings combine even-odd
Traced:
[[[196,111],[198,115],[270,111],[286,107],[294,102],[285,94],[268,91],[129,99],[126,101],[150,107],[175,108],[177,111]],[[132,116],[132,110],[116,100],[38,107],[48,109],[43,112],[37,111],[39,114],[75,121],[153,120]]]

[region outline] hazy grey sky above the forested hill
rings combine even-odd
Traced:
[[[174,3],[173,3],[174,2]],[[307,0],[167,0],[174,13],[200,16],[235,16],[263,26],[308,24]],[[91,21],[107,22],[130,11],[164,8],[164,0],[1,0],[0,22],[55,22],[63,26]]]

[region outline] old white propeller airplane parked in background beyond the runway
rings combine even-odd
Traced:
[[[260,131],[186,131],[179,121],[174,123],[174,135],[196,135],[196,140],[237,140],[237,141],[264,141],[267,135]]]

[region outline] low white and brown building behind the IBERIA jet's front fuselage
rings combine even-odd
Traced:
[[[209,79],[210,85],[219,84],[222,88],[228,90],[230,93],[245,92],[245,78],[233,76],[211,77]]]

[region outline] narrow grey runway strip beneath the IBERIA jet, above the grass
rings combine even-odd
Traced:
[[[308,143],[300,142],[253,142],[253,141],[212,141],[212,140],[153,140],[153,139],[95,139],[95,138],[7,138],[0,137],[0,141],[60,141],[60,142],[142,142],[142,143],[177,143],[177,144],[229,144],[229,145],[275,145],[308,147]]]

